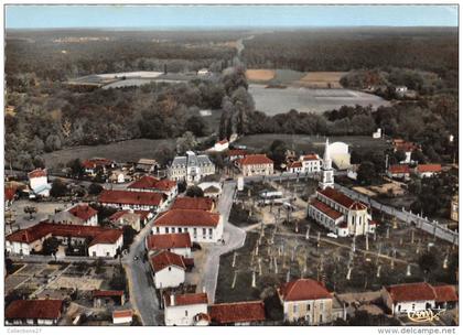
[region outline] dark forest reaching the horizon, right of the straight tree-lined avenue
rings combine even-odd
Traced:
[[[408,67],[457,69],[457,29],[362,28],[278,31],[245,41],[249,68],[351,71]]]

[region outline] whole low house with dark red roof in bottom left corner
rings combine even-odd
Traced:
[[[7,326],[56,325],[63,310],[62,300],[15,300],[4,311],[4,324]]]

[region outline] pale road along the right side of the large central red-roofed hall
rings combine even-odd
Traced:
[[[235,196],[236,182],[225,182],[222,196],[218,202],[218,212],[224,220],[225,245],[214,245],[208,248],[206,267],[203,274],[203,285],[206,289],[209,303],[215,301],[215,290],[217,288],[218,268],[220,264],[220,255],[241,248],[245,245],[246,231],[232,225],[228,221],[233,199]]]

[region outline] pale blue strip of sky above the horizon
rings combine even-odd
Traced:
[[[457,26],[457,6],[7,6],[7,29]]]

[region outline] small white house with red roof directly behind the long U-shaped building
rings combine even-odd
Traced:
[[[79,226],[98,226],[98,212],[88,204],[77,204],[50,217],[51,223]]]

